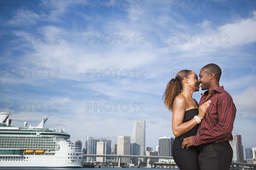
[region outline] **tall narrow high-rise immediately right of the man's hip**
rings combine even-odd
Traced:
[[[244,152],[242,145],[241,135],[234,134],[233,141],[230,141],[230,145],[233,149],[233,159],[234,162],[244,162]]]

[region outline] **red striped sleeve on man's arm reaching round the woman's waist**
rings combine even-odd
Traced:
[[[236,107],[231,96],[224,96],[218,101],[217,111],[218,120],[216,125],[211,129],[203,130],[201,133],[194,136],[193,140],[195,146],[215,142],[231,134],[236,116]]]

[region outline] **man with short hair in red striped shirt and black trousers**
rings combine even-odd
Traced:
[[[233,140],[232,130],[236,116],[233,99],[223,86],[219,85],[221,68],[216,64],[205,65],[199,73],[202,90],[199,106],[207,100],[204,119],[198,127],[197,135],[185,138],[182,147],[198,146],[198,162],[201,170],[230,170],[233,150],[229,141]]]

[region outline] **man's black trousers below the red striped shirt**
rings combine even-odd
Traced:
[[[228,141],[201,144],[199,149],[198,162],[201,170],[230,170],[233,150]]]

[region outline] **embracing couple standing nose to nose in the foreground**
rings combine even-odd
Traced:
[[[220,78],[221,68],[208,64],[199,79],[195,72],[182,70],[167,84],[164,104],[172,111],[172,156],[180,170],[230,170],[236,107]],[[207,91],[198,105],[192,94],[200,85]]]

